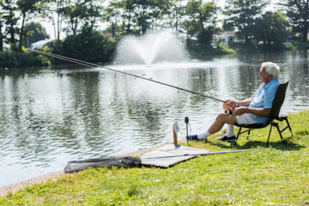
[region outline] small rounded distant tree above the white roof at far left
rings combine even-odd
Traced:
[[[48,34],[46,34],[45,28],[42,26],[42,24],[38,22],[30,22],[25,25],[24,31],[26,31],[29,34],[29,37],[27,38],[27,43],[24,43],[23,45],[26,47],[29,47],[31,43],[34,43],[36,41],[44,40],[45,38],[50,38]]]

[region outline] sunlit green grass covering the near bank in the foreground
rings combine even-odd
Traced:
[[[0,198],[0,205],[309,205],[308,115],[289,115],[294,137],[285,131],[286,145],[273,129],[266,147],[269,126],[250,140],[241,135],[237,146],[215,141],[217,134],[188,146],[251,149],[171,168],[91,168]]]

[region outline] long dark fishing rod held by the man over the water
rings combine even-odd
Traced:
[[[72,63],[76,63],[76,64],[80,64],[82,66],[88,66],[88,67],[101,67],[101,68],[106,68],[110,71],[115,71],[117,73],[122,73],[122,74],[125,74],[125,75],[130,75],[130,76],[133,76],[134,78],[140,78],[140,79],[143,79],[143,80],[148,80],[148,81],[151,81],[151,82],[155,82],[155,83],[158,83],[158,84],[163,84],[165,86],[168,86],[168,87],[173,87],[175,89],[179,89],[181,91],[187,91],[187,92],[190,92],[192,94],[196,94],[196,95],[199,95],[199,96],[203,96],[203,97],[206,97],[206,98],[211,98],[215,101],[220,101],[222,103],[227,103],[227,101],[223,101],[223,100],[220,100],[218,98],[214,98],[214,97],[211,97],[211,96],[206,96],[205,94],[201,94],[199,92],[195,92],[195,91],[190,91],[188,89],[183,89],[181,87],[176,87],[176,86],[173,86],[171,84],[166,84],[164,82],[159,82],[159,81],[156,81],[156,80],[152,80],[152,79],[148,79],[148,78],[143,78],[141,76],[138,76],[138,75],[134,75],[134,74],[131,74],[131,73],[127,73],[127,72],[124,72],[124,71],[119,71],[119,70],[116,70],[116,69],[113,69],[113,68],[108,68],[106,66],[101,66],[99,64],[93,64],[93,63],[89,63],[87,61],[82,61],[82,60],[79,60],[79,59],[73,59],[73,58],[70,58],[70,57],[64,57],[62,55],[59,55],[59,54],[52,54],[52,53],[48,53],[48,52],[43,52],[41,50],[28,50],[30,52],[36,52],[38,54],[44,54],[46,56],[49,56],[49,57],[54,57],[54,58],[57,58],[57,59],[62,59],[62,60],[66,60],[66,61],[71,61]]]

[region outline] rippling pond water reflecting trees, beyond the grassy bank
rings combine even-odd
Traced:
[[[214,98],[247,98],[262,61],[289,80],[282,112],[308,109],[308,51],[213,57],[211,61],[110,66]],[[0,70],[0,185],[62,170],[68,161],[124,154],[172,141],[185,117],[205,130],[221,103],[102,68]]]

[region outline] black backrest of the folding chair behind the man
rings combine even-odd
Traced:
[[[275,117],[278,117],[281,106],[285,101],[285,92],[287,91],[287,85],[289,81],[281,83],[275,93],[275,98],[273,99],[273,107],[271,108],[271,112],[269,113],[268,121],[273,121]]]

